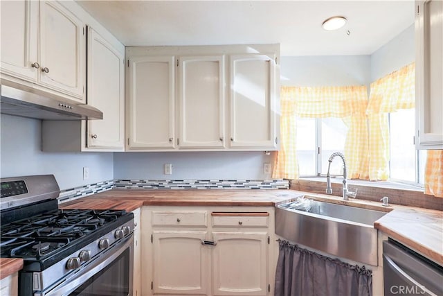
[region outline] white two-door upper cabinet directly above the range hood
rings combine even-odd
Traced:
[[[84,24],[61,3],[1,1],[2,79],[86,103],[85,52]]]

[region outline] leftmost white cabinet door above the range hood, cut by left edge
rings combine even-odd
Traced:
[[[1,73],[37,81],[39,5],[37,1],[1,1]]]

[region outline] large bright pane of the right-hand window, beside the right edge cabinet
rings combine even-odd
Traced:
[[[415,109],[390,113],[390,178],[416,182]]]

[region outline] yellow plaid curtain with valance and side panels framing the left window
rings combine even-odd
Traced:
[[[348,126],[345,143],[350,177],[368,177],[368,128],[365,86],[281,87],[280,134],[282,143],[275,159],[273,177],[298,179],[296,117],[338,117]]]

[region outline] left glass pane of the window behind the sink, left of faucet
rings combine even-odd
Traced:
[[[296,147],[300,176],[316,175],[316,119],[297,119]]]

